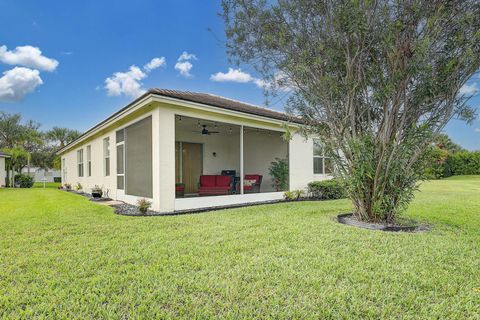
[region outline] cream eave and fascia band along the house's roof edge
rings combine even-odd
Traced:
[[[114,124],[116,121],[128,116],[133,112],[138,111],[139,109],[153,102],[166,103],[169,105],[187,107],[187,108],[197,109],[202,111],[209,111],[217,114],[236,116],[239,118],[243,118],[245,120],[256,120],[256,121],[262,121],[265,123],[276,124],[276,125],[288,125],[293,128],[298,128],[301,126],[301,124],[299,123],[274,119],[274,118],[265,117],[265,116],[254,115],[246,112],[222,109],[222,108],[211,106],[208,104],[191,102],[191,101],[186,101],[186,100],[172,98],[172,97],[165,97],[163,95],[155,94],[152,92],[146,92],[140,97],[138,97],[137,99],[135,99],[134,101],[132,101],[131,103],[129,103],[128,105],[126,105],[125,107],[123,107],[122,109],[120,109],[119,111],[109,116],[107,119],[103,120],[102,122],[98,123],[97,125],[85,131],[85,133],[80,135],[77,139],[75,139],[74,141],[67,144],[65,147],[58,150],[56,154],[61,155],[65,153],[66,151],[74,148],[76,145],[84,142],[85,140],[88,140],[98,132],[108,128],[109,126]]]

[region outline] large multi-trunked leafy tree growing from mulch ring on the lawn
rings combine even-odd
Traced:
[[[356,217],[395,221],[480,67],[480,2],[223,0],[227,48],[322,137]]]

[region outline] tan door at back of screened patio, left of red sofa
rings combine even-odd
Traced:
[[[185,184],[185,193],[198,192],[198,180],[203,172],[203,146],[201,143],[176,142],[176,180]]]

